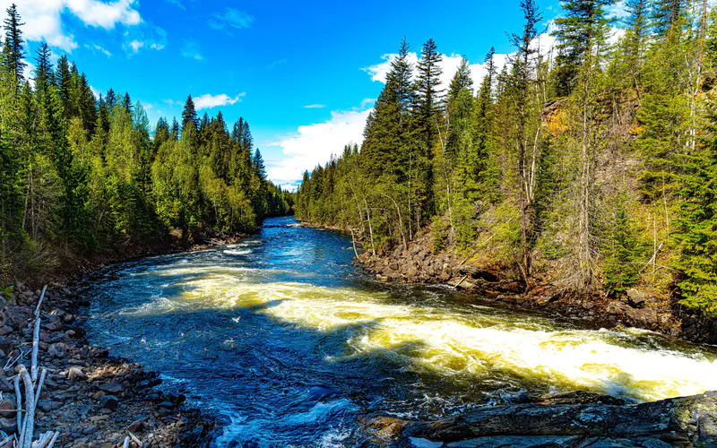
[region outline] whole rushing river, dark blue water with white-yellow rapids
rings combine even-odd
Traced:
[[[387,286],[350,239],[267,220],[237,245],[95,274],[94,344],[227,416],[220,445],[353,446],[367,414],[436,418],[522,392],[653,401],[717,389],[717,352],[448,288]]]

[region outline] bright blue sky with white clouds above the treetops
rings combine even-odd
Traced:
[[[505,32],[522,23],[517,0],[17,3],[33,58],[45,39],[94,90],[129,91],[152,124],[179,116],[189,93],[200,114],[221,110],[229,124],[244,116],[281,185],[296,185],[304,169],[360,141],[403,36],[417,52],[435,39],[446,78],[463,54],[479,77],[488,49],[511,52]],[[540,8],[546,22],[559,10],[556,0]]]

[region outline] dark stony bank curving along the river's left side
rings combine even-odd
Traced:
[[[208,238],[184,245],[178,240],[133,247],[122,254],[97,254],[52,272],[41,308],[39,366],[48,370],[36,413],[35,432],[58,431],[56,446],[122,446],[132,433],[147,447],[208,446],[220,434],[216,416],[184,405],[181,394],[157,390],[160,373],[147,370],[111,350],[93,347],[85,334],[89,301],[77,293],[79,282],[108,263],[230,244],[243,235]],[[31,325],[39,283],[13,283],[0,297],[0,431],[18,431],[15,392],[7,378],[20,364],[29,366]],[[19,359],[18,359],[19,358]],[[130,446],[138,446],[132,442]]]

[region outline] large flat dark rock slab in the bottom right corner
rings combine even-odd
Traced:
[[[691,421],[694,423],[690,424]],[[576,437],[574,443],[566,446],[717,446],[717,392],[638,405],[530,403],[482,407],[461,416],[412,424],[404,435],[447,443],[464,441],[449,446],[497,446],[479,441],[488,437],[508,440],[514,436]],[[641,442],[610,442],[624,439]],[[505,445],[538,446],[510,442]]]

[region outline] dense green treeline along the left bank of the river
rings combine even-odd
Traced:
[[[0,67],[0,279],[52,269],[63,257],[204,233],[247,232],[291,211],[267,181],[246,120],[200,119],[151,132],[139,102],[108,90],[43,43],[30,79],[15,6],[4,20]],[[30,82],[31,81],[31,82]]]

